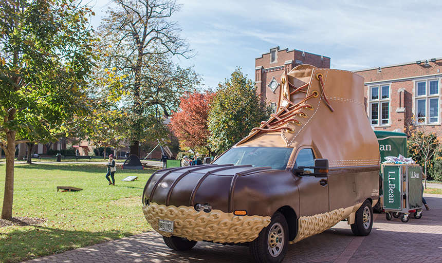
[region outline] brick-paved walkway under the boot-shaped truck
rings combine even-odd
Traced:
[[[283,262],[410,262],[442,263],[442,195],[425,194],[430,206],[421,219],[407,223],[374,214],[369,236],[355,237],[346,222],[316,236],[289,245]],[[175,252],[164,245],[156,232],[146,232],[71,250],[31,262],[252,262],[247,247],[198,242],[189,251]]]

